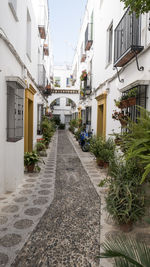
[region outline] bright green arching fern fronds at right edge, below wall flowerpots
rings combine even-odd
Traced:
[[[127,160],[135,159],[143,170],[141,183],[150,175],[150,112],[138,107],[137,122],[129,121],[122,136]]]

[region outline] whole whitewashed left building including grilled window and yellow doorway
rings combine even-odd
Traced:
[[[50,39],[47,30],[42,37],[40,27],[48,29],[48,20],[40,24],[39,3],[48,14],[46,0],[0,2],[0,193],[15,190],[23,179],[24,151],[31,151],[37,138],[38,105],[47,103],[38,67],[46,64],[49,84],[43,51]]]

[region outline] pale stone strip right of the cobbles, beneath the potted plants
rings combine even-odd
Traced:
[[[78,142],[75,140],[71,133],[68,133],[69,139],[73,144],[73,147],[79,156],[84,169],[90,177],[91,182],[93,183],[97,193],[101,198],[101,235],[100,243],[103,243],[106,237],[111,236],[115,237],[118,234],[122,234],[119,226],[113,221],[110,215],[106,211],[105,196],[107,194],[108,188],[107,185],[104,187],[99,187],[101,180],[107,177],[107,169],[101,169],[96,164],[96,159],[89,152],[82,152],[79,147]],[[147,187],[147,195],[149,195],[149,187]],[[150,208],[147,208],[146,217],[150,217]],[[125,233],[123,233],[125,234]],[[126,233],[127,236],[132,236],[134,239],[145,242],[150,246],[150,224],[145,221],[143,218],[140,222],[137,222],[131,232]],[[112,267],[113,261],[111,259],[101,259],[100,267]]]

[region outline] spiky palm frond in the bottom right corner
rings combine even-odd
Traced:
[[[99,258],[114,258],[114,267],[149,267],[150,248],[132,237],[118,235],[108,237],[102,244]]]

